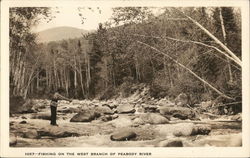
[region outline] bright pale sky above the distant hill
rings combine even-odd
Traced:
[[[77,7],[60,7],[53,8],[52,15],[55,16],[50,22],[41,20],[40,23],[33,28],[34,32],[43,31],[53,27],[69,26],[76,27],[84,30],[95,30],[99,23],[107,21],[111,15],[111,8],[100,8],[101,14],[97,8],[93,11],[88,8],[81,9],[81,13],[86,18],[82,24]],[[59,11],[59,13],[57,13]]]

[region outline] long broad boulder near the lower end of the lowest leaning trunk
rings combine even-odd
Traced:
[[[195,113],[186,107],[169,107],[163,106],[159,108],[160,114],[173,116],[179,119],[192,119],[195,117]]]

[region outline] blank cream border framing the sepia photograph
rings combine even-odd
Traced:
[[[9,147],[9,47],[8,9],[27,6],[237,6],[242,11],[243,58],[243,146],[242,147],[184,147],[184,148],[10,148]],[[169,1],[70,1],[23,0],[1,2],[1,157],[25,157],[25,152],[151,152],[152,157],[247,157],[250,156],[249,106],[249,1],[248,0],[169,0]],[[52,157],[52,156],[48,156]],[[66,157],[66,156],[61,156]],[[101,156],[104,157],[104,156]],[[139,157],[139,156],[137,156]]]

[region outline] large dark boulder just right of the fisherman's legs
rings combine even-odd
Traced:
[[[70,119],[70,122],[90,122],[100,117],[100,113],[93,110],[84,110]]]

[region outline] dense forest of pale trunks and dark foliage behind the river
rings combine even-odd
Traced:
[[[109,99],[143,84],[154,98],[240,101],[240,10],[154,9],[113,8],[96,32],[49,43],[31,33],[40,18],[51,20],[49,8],[10,9],[10,95],[46,98],[60,87],[71,98]]]

